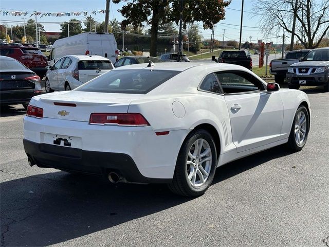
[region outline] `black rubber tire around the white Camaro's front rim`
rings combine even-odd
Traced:
[[[305,122],[306,131],[305,131],[305,134],[304,134],[304,140],[303,140],[303,142],[299,144],[299,143],[297,143],[297,140],[295,138],[295,125],[296,125],[296,121],[298,119],[298,114],[300,112],[302,112],[304,114],[305,119],[306,119],[306,122]],[[290,135],[289,135],[289,138],[288,138],[287,146],[291,150],[294,150],[294,151],[300,151],[300,150],[302,150],[303,147],[306,144],[306,140],[307,140],[307,136],[308,136],[308,131],[309,131],[309,115],[308,115],[307,109],[303,105],[300,105],[300,107],[297,109],[297,111],[295,113],[293,125],[291,125],[291,130],[290,130]]]

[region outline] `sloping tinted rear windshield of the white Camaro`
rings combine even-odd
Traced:
[[[112,70],[82,85],[77,91],[147,94],[177,74],[179,71],[173,70]]]

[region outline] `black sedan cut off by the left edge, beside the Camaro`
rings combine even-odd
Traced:
[[[0,104],[23,104],[42,94],[40,77],[16,59],[0,56]]]

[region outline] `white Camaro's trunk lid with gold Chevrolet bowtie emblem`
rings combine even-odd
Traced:
[[[34,97],[30,104],[42,108],[47,118],[89,122],[92,113],[126,113],[131,101],[142,97],[140,94],[63,91]]]

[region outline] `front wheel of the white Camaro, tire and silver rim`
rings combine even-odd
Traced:
[[[309,115],[307,109],[301,105],[296,111],[293,126],[291,126],[288,147],[300,151],[305,146],[309,131]]]

